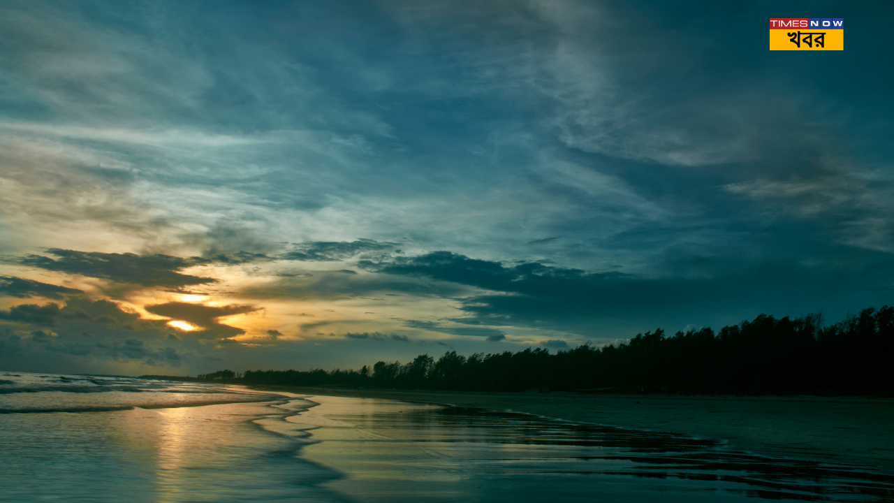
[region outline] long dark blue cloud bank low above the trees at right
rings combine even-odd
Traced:
[[[743,305],[809,311],[842,300],[877,298],[873,289],[894,281],[894,260],[885,254],[877,254],[873,269],[863,270],[843,264],[810,267],[788,260],[733,264],[690,258],[685,262],[674,264],[676,275],[664,278],[588,273],[540,262],[475,260],[453,252],[366,260],[359,265],[381,274],[427,277],[489,291],[463,298],[460,309],[468,318],[456,321],[583,333],[592,333],[599,320],[628,320],[628,326],[637,320],[676,323],[687,316],[715,320],[713,312]],[[858,264],[856,260],[857,268]],[[819,289],[830,294],[818,293]],[[444,333],[457,330],[434,322],[408,323]]]

